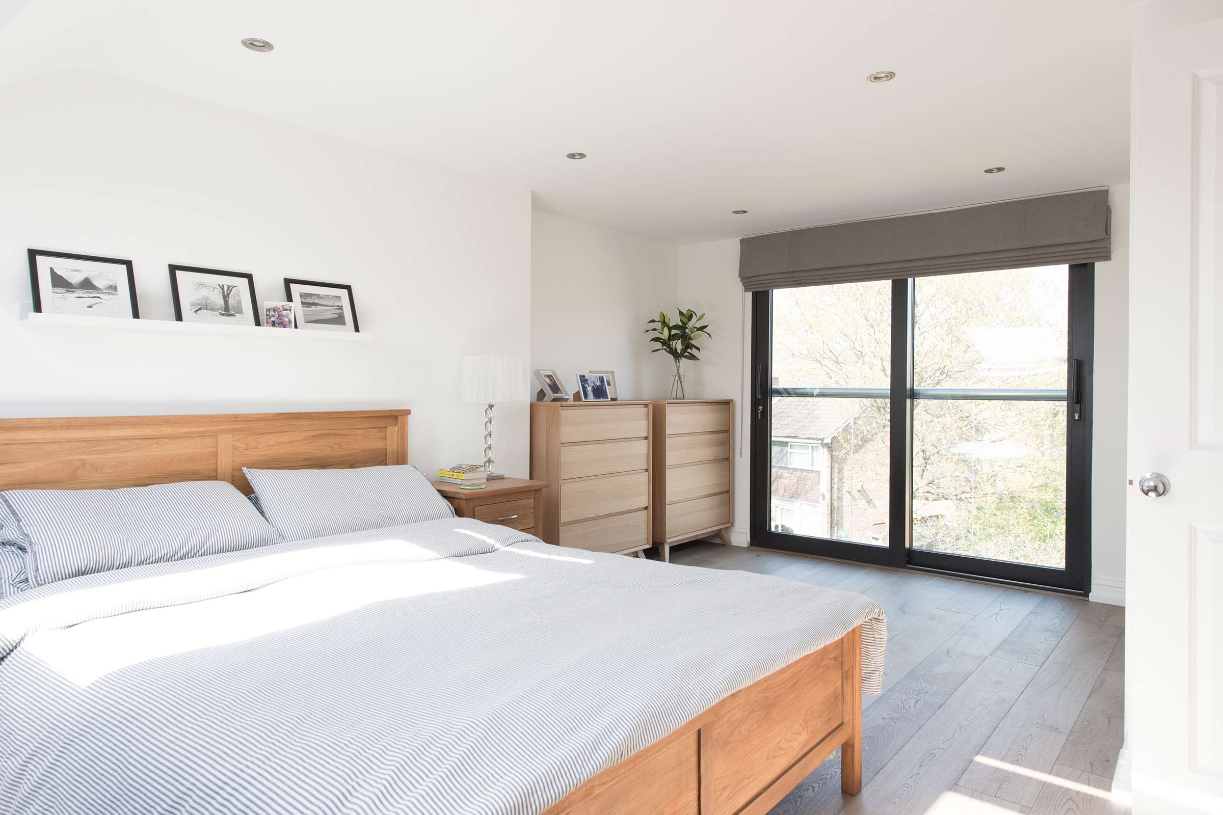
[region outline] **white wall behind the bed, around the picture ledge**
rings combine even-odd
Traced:
[[[408,407],[412,463],[478,459],[457,363],[530,356],[528,191],[76,71],[0,87],[0,415]],[[132,259],[163,320],[169,263],[350,282],[372,341],[22,325],[27,247]],[[526,475],[526,404],[498,428]]]

